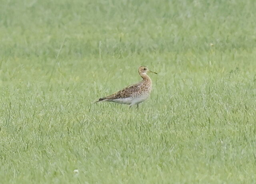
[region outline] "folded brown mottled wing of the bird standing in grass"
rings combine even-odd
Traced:
[[[141,86],[141,82],[137,83],[137,84],[133,84],[131,86],[128,86],[110,96],[105,97],[105,99],[118,99],[118,98],[128,98],[128,97],[132,97],[134,94],[136,94],[139,90]]]

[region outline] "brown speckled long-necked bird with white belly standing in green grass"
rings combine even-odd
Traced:
[[[100,98],[96,102],[115,102],[119,104],[127,104],[130,107],[137,105],[138,108],[139,103],[146,100],[150,96],[152,90],[152,80],[147,73],[157,74],[156,72],[148,70],[146,66],[140,66],[138,68],[138,73],[142,77],[140,82],[127,86],[114,94]]]

